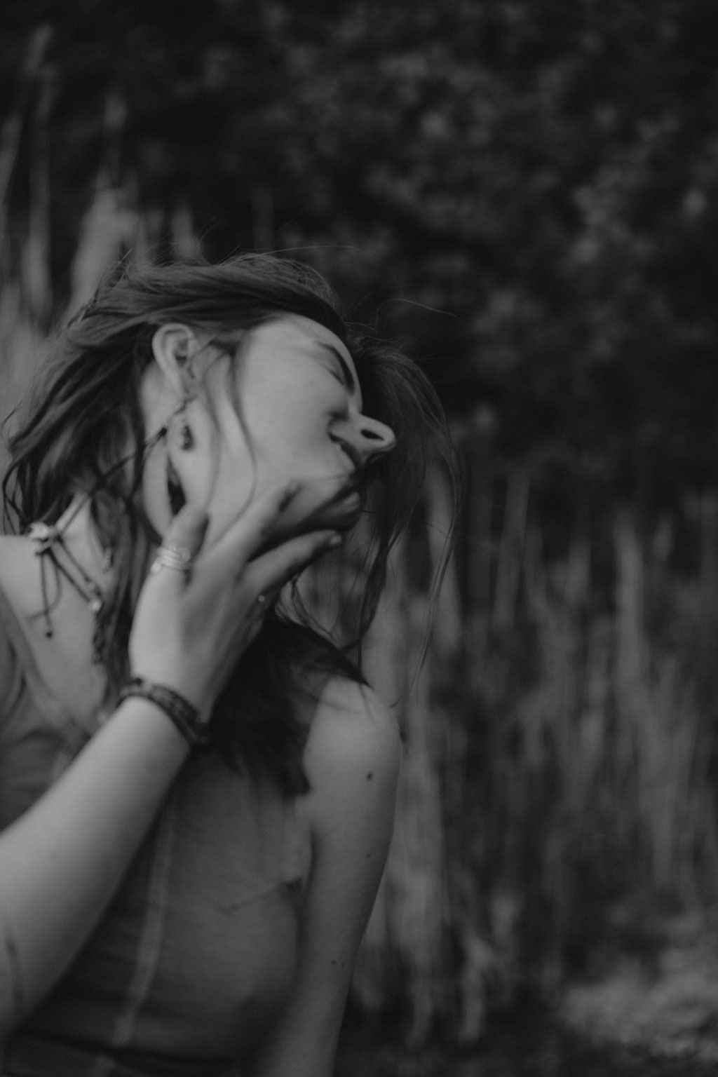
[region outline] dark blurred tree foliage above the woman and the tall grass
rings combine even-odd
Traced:
[[[43,125],[58,303],[98,174],[172,247],[293,250],[539,479],[712,479],[708,0],[4,0],[17,232]],[[42,149],[42,146],[40,146]],[[36,169],[37,171],[37,169]],[[37,179],[34,180],[37,185]]]

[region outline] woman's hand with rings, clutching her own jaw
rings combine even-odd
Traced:
[[[262,628],[267,604],[261,596],[277,593],[341,541],[335,530],[323,528],[261,551],[298,489],[293,482],[257,498],[207,550],[207,515],[191,505],[178,513],[164,543],[186,547],[192,567],[184,572],[161,565],[147,576],[129,639],[132,676],[172,688],[209,718]]]

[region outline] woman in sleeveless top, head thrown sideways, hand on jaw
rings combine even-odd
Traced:
[[[0,540],[3,1077],[330,1074],[399,743],[285,584],[360,523],[361,635],[431,444],[293,263],[125,271],[59,337]]]

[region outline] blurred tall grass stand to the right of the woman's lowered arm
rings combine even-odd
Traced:
[[[366,946],[375,969],[400,969],[413,1038],[475,1038],[522,987],[550,997],[628,939],[647,940],[663,914],[705,913],[718,894],[706,640],[718,499],[702,502],[704,557],[685,578],[667,567],[666,521],[646,543],[630,510],[607,521],[608,570],[587,533],[550,561],[530,485],[523,468],[494,480],[504,513],[489,586],[454,578],[418,691],[399,708],[408,743],[391,893]],[[479,534],[487,542],[484,523]],[[396,639],[413,638],[419,601],[405,592]],[[448,649],[437,639],[447,603],[464,626]],[[380,666],[396,661],[385,630]]]

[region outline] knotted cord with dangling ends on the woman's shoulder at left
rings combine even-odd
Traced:
[[[93,662],[102,661],[104,651],[104,627],[100,621],[100,614],[104,610],[104,595],[99,584],[85,571],[83,565],[71,553],[65,542],[65,532],[78,514],[82,510],[88,498],[76,495],[62,513],[56,523],[44,523],[42,521],[31,523],[27,530],[27,536],[37,544],[36,556],[40,559],[40,583],[42,588],[42,612],[45,619],[45,638],[52,639],[55,628],[52,620],[52,612],[59,601],[59,587],[54,602],[50,601],[47,588],[47,561],[55,569],[55,577],[64,576],[71,587],[85,600],[94,620],[93,629]],[[69,561],[71,569],[57,556],[58,547],[62,550]],[[104,571],[112,567],[112,550],[108,549],[102,555],[102,568]]]

